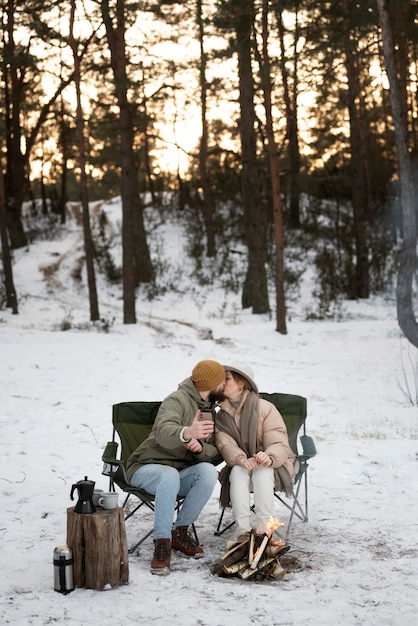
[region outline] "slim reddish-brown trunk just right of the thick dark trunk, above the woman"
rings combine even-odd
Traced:
[[[263,0],[263,52],[261,67],[261,83],[264,94],[264,109],[266,112],[267,150],[270,166],[271,191],[273,201],[274,235],[276,244],[276,330],[283,335],[287,334],[286,304],[284,289],[284,236],[283,213],[280,195],[280,172],[278,148],[274,138],[272,115],[272,90],[270,57],[268,53],[268,14],[269,0]]]

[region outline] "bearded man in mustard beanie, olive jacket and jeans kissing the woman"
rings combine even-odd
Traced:
[[[148,438],[131,454],[127,474],[134,487],[155,496],[152,574],[168,574],[171,550],[199,558],[202,548],[189,533],[212,495],[219,457],[212,419],[201,419],[222,396],[225,370],[200,361],[192,375],[162,402]],[[184,497],[173,526],[177,496]]]

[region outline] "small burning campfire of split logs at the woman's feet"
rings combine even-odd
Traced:
[[[279,557],[290,546],[284,540],[273,539],[274,530],[281,525],[278,520],[271,518],[263,535],[257,535],[252,530],[248,537],[225,552],[213,572],[218,576],[235,576],[242,580],[283,578],[286,570],[281,566]]]

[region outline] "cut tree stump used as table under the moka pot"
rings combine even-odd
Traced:
[[[67,544],[73,550],[74,585],[102,590],[129,580],[128,543],[122,507],[75,513],[67,509]]]

